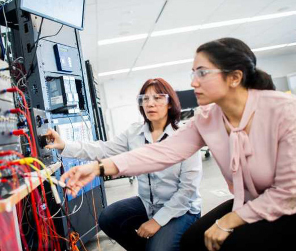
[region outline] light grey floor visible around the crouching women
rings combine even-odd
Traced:
[[[136,180],[131,185],[128,178],[107,181],[105,182],[105,188],[108,205],[117,200],[128,198],[137,194]],[[200,187],[200,193],[203,198],[202,215],[223,201],[232,198],[232,195],[228,191],[227,184],[212,156],[208,159],[203,158],[203,179]],[[88,251],[125,250],[115,241],[111,241],[103,231],[100,231],[98,235],[100,248],[98,247],[97,236],[94,236],[85,244]]]

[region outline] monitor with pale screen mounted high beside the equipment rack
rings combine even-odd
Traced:
[[[21,0],[21,9],[83,30],[85,0]]]

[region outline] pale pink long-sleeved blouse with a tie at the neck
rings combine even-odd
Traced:
[[[247,135],[244,129],[252,115]],[[250,89],[237,128],[218,105],[200,106],[165,141],[111,160],[119,175],[139,175],[181,162],[205,145],[234,194],[233,210],[246,222],[296,213],[296,97],[289,94]]]

